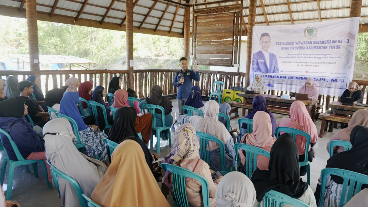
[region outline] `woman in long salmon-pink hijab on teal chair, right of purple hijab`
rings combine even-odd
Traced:
[[[308,149],[308,161],[313,161],[313,150],[311,149],[318,140],[317,127],[312,121],[305,104],[301,101],[294,101],[290,106],[290,118],[283,119],[277,124],[279,126],[291,127],[294,129],[300,129],[311,135],[311,144]],[[280,132],[283,134],[284,132]],[[301,135],[296,136],[296,143],[299,149],[299,162],[304,161],[305,153],[305,137]],[[300,175],[304,176],[307,173],[307,166],[300,167]]]

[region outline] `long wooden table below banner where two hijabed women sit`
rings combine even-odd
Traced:
[[[269,94],[245,94],[241,93],[238,94],[240,97],[244,97],[243,103],[252,103],[254,97],[262,95],[266,99],[266,106],[273,106],[278,108],[286,108],[290,109],[291,103],[294,101],[301,101],[305,104],[305,108],[307,108],[307,111],[309,115],[311,116],[312,120],[314,121],[314,113],[316,110],[316,104],[318,103],[318,100],[300,100],[300,99],[283,99],[281,97],[277,97],[276,95],[269,95]],[[242,116],[245,116],[245,110],[241,113]]]

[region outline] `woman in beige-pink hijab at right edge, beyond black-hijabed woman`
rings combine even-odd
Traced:
[[[354,112],[353,116],[351,116],[351,119],[348,123],[348,127],[337,131],[330,138],[330,141],[333,141],[333,140],[350,141],[351,130],[353,130],[353,128],[357,125],[368,127],[368,109],[360,109]],[[326,149],[328,152],[330,152],[329,150],[330,141],[326,144]],[[341,146],[336,146],[333,148],[333,154],[343,152],[343,151],[344,151],[344,147],[341,147]]]

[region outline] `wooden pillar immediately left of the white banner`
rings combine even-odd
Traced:
[[[252,58],[252,39],[253,39],[253,27],[255,25],[255,9],[257,6],[257,0],[250,0],[249,2],[249,15],[248,15],[248,39],[247,39],[247,70],[245,71],[245,87],[249,85],[249,72],[251,69]]]

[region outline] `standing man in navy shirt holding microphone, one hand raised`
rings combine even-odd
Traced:
[[[193,69],[194,71],[188,70],[188,61],[185,57],[181,57],[180,60],[181,70],[175,73],[174,87],[178,87],[178,92],[176,95],[176,99],[178,100],[178,107],[180,115],[184,115],[183,113],[183,105],[187,100],[190,94],[190,89],[192,88],[193,79],[195,81],[199,81],[199,72],[197,69],[197,64],[194,63]]]

